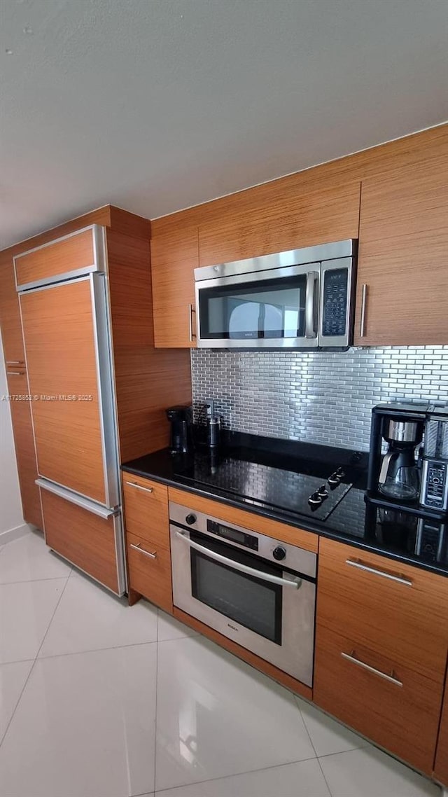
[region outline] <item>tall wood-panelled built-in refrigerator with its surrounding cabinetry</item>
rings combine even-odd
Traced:
[[[118,465],[167,445],[165,407],[191,401],[188,351],[154,348],[149,239],[150,222],[107,206],[0,259],[25,519],[117,594],[126,589]]]

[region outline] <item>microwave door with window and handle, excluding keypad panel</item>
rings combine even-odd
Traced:
[[[196,282],[198,347],[316,348],[320,263]]]

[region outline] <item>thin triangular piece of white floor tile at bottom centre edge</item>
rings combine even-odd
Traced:
[[[158,791],[156,797],[330,797],[330,792],[314,759]]]

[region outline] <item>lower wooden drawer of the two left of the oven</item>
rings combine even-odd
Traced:
[[[173,612],[171,555],[169,548],[151,544],[147,539],[127,535],[129,584],[145,598]]]

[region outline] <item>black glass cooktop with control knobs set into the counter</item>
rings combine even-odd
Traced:
[[[304,463],[297,473],[234,457],[195,455],[186,467],[179,462],[178,475],[187,481],[210,485],[238,495],[247,504],[262,504],[295,514],[327,520],[352,483],[344,468],[331,464]]]

